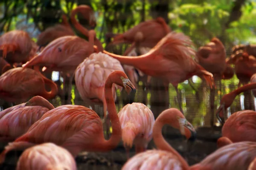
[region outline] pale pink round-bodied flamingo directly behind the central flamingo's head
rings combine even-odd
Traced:
[[[79,64],[75,71],[76,88],[81,98],[86,101],[100,100],[103,102],[104,117],[107,113],[107,102],[104,94],[104,84],[111,72],[124,71],[122,65],[117,59],[104,53],[93,53]],[[113,85],[112,92],[114,100],[116,99],[115,89],[122,88]]]

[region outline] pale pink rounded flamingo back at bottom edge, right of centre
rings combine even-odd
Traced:
[[[164,150],[147,150],[129,159],[122,170],[183,170],[177,156]]]

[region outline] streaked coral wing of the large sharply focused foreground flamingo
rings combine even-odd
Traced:
[[[102,122],[93,110],[79,105],[62,105],[45,113],[15,142],[63,144],[79,131],[87,132],[87,136],[83,136],[86,140],[98,130],[102,130]]]

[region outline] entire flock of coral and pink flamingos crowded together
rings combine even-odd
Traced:
[[[0,153],[0,164],[10,151],[24,150],[16,170],[77,170],[75,158],[82,151],[110,152],[122,141],[127,154],[122,170],[256,169],[256,112],[238,111],[226,119],[226,110],[237,95],[252,90],[256,96],[254,45],[237,45],[227,58],[224,44],[213,37],[195,50],[189,36],[172,31],[157,17],[113,37],[110,45],[131,44],[123,55],[117,55],[103,48],[95,30],[76,20],[77,13],[94,27],[93,9],[80,5],[70,15],[76,31],[88,41],[76,35],[66,14],[62,14],[62,23],[43,31],[36,43],[22,30],[0,37],[0,99],[9,103],[0,111],[0,142],[8,142]],[[45,76],[52,71],[69,80],[64,89],[70,92],[74,80],[84,102],[102,104],[104,116],[82,105],[54,107],[49,100],[55,99],[61,87]],[[168,108],[155,117],[148,105],[134,102],[138,76],[144,74],[148,85],[151,77],[163,81],[166,91],[171,83],[179,109]],[[216,110],[222,125],[218,149],[189,166],[162,133],[164,125],[169,125],[186,140],[196,139],[196,130],[183,112],[178,85],[198,76],[215,89],[215,80],[234,74],[239,86],[222,96]],[[121,91],[129,103],[117,113],[115,102]],[[108,139],[106,132],[111,133]],[[149,150],[151,140],[156,148]],[[133,145],[136,153],[130,157]]]

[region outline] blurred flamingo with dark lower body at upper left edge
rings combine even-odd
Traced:
[[[25,31],[8,31],[0,37],[0,51],[7,62],[27,62],[33,41]]]

